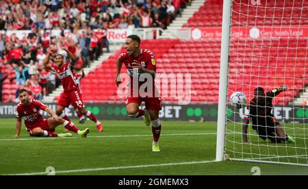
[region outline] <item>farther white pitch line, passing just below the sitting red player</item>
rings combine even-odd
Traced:
[[[198,133],[198,134],[161,134],[161,136],[194,136],[194,135],[215,135],[216,133]],[[152,134],[141,134],[141,135],[113,135],[113,136],[87,136],[87,138],[118,138],[118,137],[144,137],[144,136],[153,136]],[[57,137],[44,137],[44,138],[5,138],[0,139],[0,141],[14,141],[14,140],[55,140],[55,139],[72,139],[80,137],[66,137],[66,138],[57,138]]]

